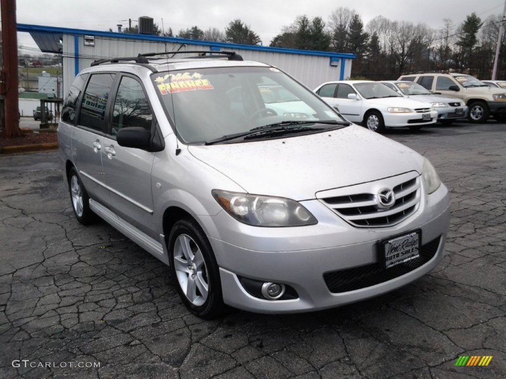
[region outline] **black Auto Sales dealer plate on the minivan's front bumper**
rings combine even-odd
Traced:
[[[420,231],[399,235],[382,242],[385,268],[397,266],[420,256]]]

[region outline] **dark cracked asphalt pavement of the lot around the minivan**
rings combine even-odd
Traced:
[[[443,262],[353,305],[213,321],[185,309],[158,260],[76,221],[57,152],[0,157],[0,377],[505,378],[506,125],[387,136],[450,189]]]

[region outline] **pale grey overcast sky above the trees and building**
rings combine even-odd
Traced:
[[[160,28],[171,27],[176,35],[180,29],[197,25],[205,30],[224,30],[234,19],[241,19],[256,32],[264,45],[290,25],[297,16],[328,16],[339,7],[355,10],[364,27],[372,18],[382,15],[392,21],[426,23],[439,29],[443,19],[459,25],[473,12],[485,20],[499,15],[503,0],[17,0],[17,22],[90,30],[117,30],[116,24],[128,26],[128,19],[140,16],[154,19]],[[133,23],[135,25],[135,23]],[[18,33],[18,43],[35,48],[28,33]],[[35,52],[33,52],[35,53]],[[32,53],[32,54],[33,54]]]

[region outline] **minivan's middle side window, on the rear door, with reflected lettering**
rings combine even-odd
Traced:
[[[114,74],[94,74],[82,97],[79,124],[102,131]]]

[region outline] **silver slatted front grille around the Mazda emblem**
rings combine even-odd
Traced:
[[[382,209],[378,202],[377,193],[381,188],[391,188],[395,194],[395,203],[388,209]],[[354,189],[368,191],[357,193]],[[412,172],[376,182],[325,191],[321,193],[323,196],[318,198],[351,225],[385,227],[401,222],[418,209],[420,191],[420,177]],[[344,194],[324,196],[328,193]]]

